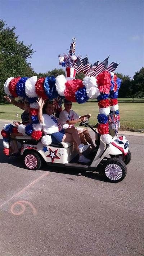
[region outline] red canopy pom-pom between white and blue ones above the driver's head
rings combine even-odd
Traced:
[[[82,80],[73,79],[66,82],[66,89],[64,90],[64,95],[68,101],[76,102],[75,92],[83,88],[84,85]]]

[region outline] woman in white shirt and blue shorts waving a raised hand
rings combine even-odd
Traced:
[[[89,145],[81,144],[81,140],[78,134],[78,131],[75,127],[62,129],[61,123],[59,120],[53,115],[54,107],[53,103],[46,102],[42,98],[39,98],[37,103],[39,104],[39,113],[38,119],[40,124],[42,125],[42,129],[46,134],[51,135],[52,142],[75,142],[78,151],[79,151],[79,162],[89,163],[90,160],[85,158],[82,154],[86,149],[88,149]]]

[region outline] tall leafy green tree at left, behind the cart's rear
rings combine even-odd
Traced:
[[[35,71],[31,63],[27,62],[34,53],[32,45],[24,45],[15,35],[15,27],[6,27],[7,24],[0,19],[0,100],[4,96],[4,82],[10,76],[33,76]]]

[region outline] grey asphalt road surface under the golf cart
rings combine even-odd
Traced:
[[[0,139],[0,256],[144,255],[144,137],[130,134],[132,160],[118,184],[96,173],[26,170],[3,155]]]

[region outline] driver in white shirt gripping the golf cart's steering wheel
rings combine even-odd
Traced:
[[[84,116],[78,115],[74,110],[72,110],[72,102],[64,99],[65,109],[60,112],[59,120],[62,124],[62,128],[72,128],[76,123],[85,122],[87,118],[90,118],[91,114]],[[95,149],[93,140],[90,137],[90,134],[86,128],[77,128],[80,135],[81,142],[84,145],[87,145],[87,142],[91,145],[92,149]]]

